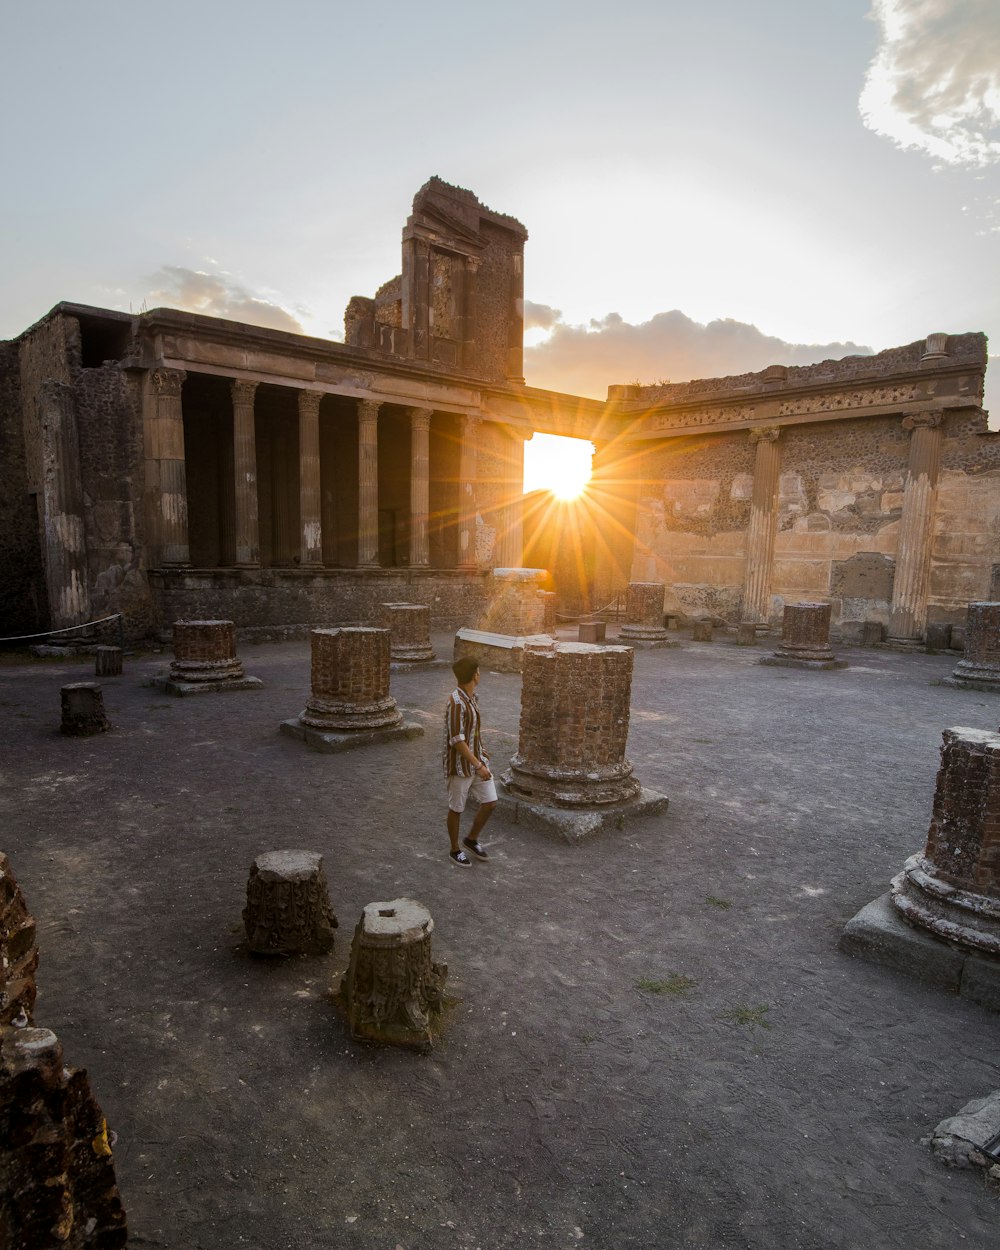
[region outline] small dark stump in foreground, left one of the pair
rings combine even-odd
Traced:
[[[255,955],[324,955],[334,949],[336,916],[315,851],[266,851],[250,865],[246,941]]]

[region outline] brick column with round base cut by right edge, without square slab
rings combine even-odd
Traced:
[[[1000,734],[946,729],[922,855],[892,880],[910,924],[1000,955]]]

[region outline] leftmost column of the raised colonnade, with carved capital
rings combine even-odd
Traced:
[[[184,468],[182,369],[154,369],[151,411],[144,426],[146,516],[150,556],[156,568],[190,562],[188,546],[188,482]]]

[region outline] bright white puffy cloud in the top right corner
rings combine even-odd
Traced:
[[[872,0],[881,42],[859,109],[865,125],[948,165],[1000,162],[1000,4]]]

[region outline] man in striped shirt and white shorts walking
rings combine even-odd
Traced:
[[[479,835],[496,806],[496,786],[490,771],[489,756],[482,750],[479,702],[479,664],[462,656],[451,665],[458,686],[451,691],[445,708],[445,781],[448,782],[448,838],[451,842],[451,862],[459,868],[471,868],[466,851],[476,859],[489,859]],[[469,836],[459,846],[461,814],[469,796],[479,802],[479,811],[469,830]],[[465,848],[465,849],[462,849]]]

